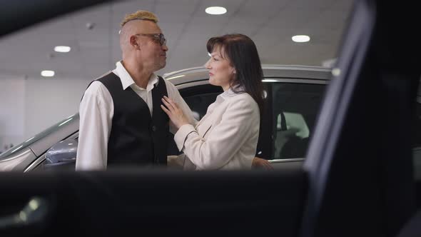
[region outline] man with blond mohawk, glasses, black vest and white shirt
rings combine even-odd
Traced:
[[[122,60],[89,84],[79,107],[76,170],[107,166],[166,165],[169,120],[163,96],[176,101],[194,123],[176,87],[155,71],[166,66],[166,38],[158,18],[136,11],[121,21]]]

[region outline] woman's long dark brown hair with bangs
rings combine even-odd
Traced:
[[[259,106],[260,116],[263,114],[263,71],[260,64],[258,49],[254,42],[243,34],[225,34],[213,37],[208,40],[206,48],[209,53],[213,49],[225,52],[235,68],[235,78],[232,81],[231,89],[236,93],[248,93]],[[242,86],[244,91],[236,91],[236,86]]]

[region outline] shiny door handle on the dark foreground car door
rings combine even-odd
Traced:
[[[33,226],[46,221],[51,205],[46,198],[35,196],[18,213],[0,217],[0,231]]]

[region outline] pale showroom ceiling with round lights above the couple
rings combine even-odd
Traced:
[[[258,46],[263,64],[321,66],[335,57],[352,8],[352,0],[138,0],[114,1],[46,21],[0,38],[0,79],[41,79],[42,70],[54,70],[54,79],[92,80],[114,68],[121,57],[119,23],[138,9],[157,14],[168,40],[163,74],[208,59],[211,36],[241,33]],[[213,16],[208,6],[228,12]],[[89,30],[87,23],[95,26]],[[291,36],[308,34],[311,41],[295,43]],[[54,46],[71,46],[67,54]]]

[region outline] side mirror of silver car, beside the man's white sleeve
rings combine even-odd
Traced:
[[[78,141],[63,140],[51,146],[46,152],[46,161],[49,164],[69,163],[76,161]]]

